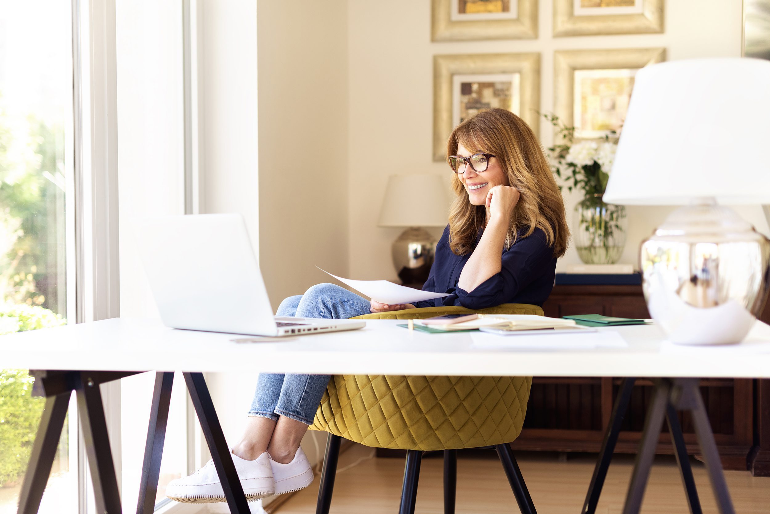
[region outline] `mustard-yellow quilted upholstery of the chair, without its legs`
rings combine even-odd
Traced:
[[[502,304],[481,311],[426,307],[355,319],[474,312],[543,314],[537,305]],[[498,445],[514,441],[521,432],[531,384],[531,377],[334,375],[310,429],[377,448],[428,451]]]

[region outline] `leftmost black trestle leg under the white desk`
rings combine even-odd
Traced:
[[[71,395],[72,392],[67,391],[45,398],[45,409],[38,433],[35,435],[32,455],[29,457],[22,492],[18,499],[18,514],[35,514],[40,508],[40,500],[51,475]]]

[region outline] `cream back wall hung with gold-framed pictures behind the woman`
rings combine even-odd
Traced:
[[[429,172],[450,180],[447,166],[431,160],[433,55],[541,52],[541,109],[551,111],[554,50],[665,47],[668,60],[739,56],[741,3],[666,2],[663,34],[552,38],[552,1],[541,0],[538,39],[434,43],[430,42],[427,0],[350,0],[350,275],[359,279],[397,278],[390,259],[390,244],[400,229],[377,227],[388,175]],[[551,127],[545,123],[541,123],[541,140],[545,146],[552,141]],[[383,153],[396,153],[399,159],[378,158]],[[576,197],[567,198],[570,221],[575,200]],[[628,211],[628,243],[621,262],[636,264],[639,243],[665,219],[670,209],[631,207]],[[740,212],[758,230],[767,231],[758,207],[745,207]],[[579,262],[571,248],[559,260],[559,268]]]

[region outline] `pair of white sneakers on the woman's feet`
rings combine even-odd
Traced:
[[[233,464],[236,465],[236,472],[238,472],[238,478],[247,500],[253,501],[273,495],[275,492],[273,469],[266,452],[253,461],[241,459],[232,452],[230,457],[233,458]],[[166,496],[177,502],[185,503],[227,501],[222,484],[219,483],[219,475],[216,473],[214,462],[211,460],[192,475],[169,482],[169,485],[166,485]]]

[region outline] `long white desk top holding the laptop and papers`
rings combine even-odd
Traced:
[[[477,348],[473,333],[410,332],[397,323],[404,322],[370,320],[356,331],[239,344],[230,340],[248,336],[114,318],[2,336],[0,368],[770,378],[770,326],[759,321],[742,344],[729,347],[672,347],[658,327],[632,325],[599,329],[618,331],[626,348],[573,350]]]

